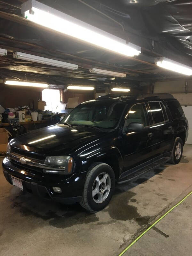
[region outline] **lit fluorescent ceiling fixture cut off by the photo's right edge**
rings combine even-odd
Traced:
[[[161,58],[159,61],[156,61],[156,65],[165,68],[183,75],[191,76],[192,75],[192,68],[183,64],[180,64],[179,62],[167,59],[167,58]]]

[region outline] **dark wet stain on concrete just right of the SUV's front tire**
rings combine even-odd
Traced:
[[[150,216],[141,216],[137,212],[137,207],[130,205],[128,202],[133,199],[136,193],[127,191],[121,195],[113,196],[111,203],[108,207],[108,213],[114,220],[135,220],[140,226],[148,223]]]

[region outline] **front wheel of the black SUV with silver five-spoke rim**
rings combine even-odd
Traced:
[[[108,164],[98,163],[87,174],[80,204],[89,212],[98,212],[108,205],[114,190],[113,169]]]

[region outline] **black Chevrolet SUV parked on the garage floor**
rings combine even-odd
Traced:
[[[106,95],[10,140],[3,172],[21,190],[96,212],[116,183],[179,163],[187,137],[188,121],[171,94]]]

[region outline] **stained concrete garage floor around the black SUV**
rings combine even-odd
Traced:
[[[118,185],[108,207],[95,214],[78,204],[22,194],[0,170],[0,255],[116,256],[191,190],[191,145],[185,145],[180,164],[164,165]],[[125,255],[190,256],[191,203],[189,196]]]

